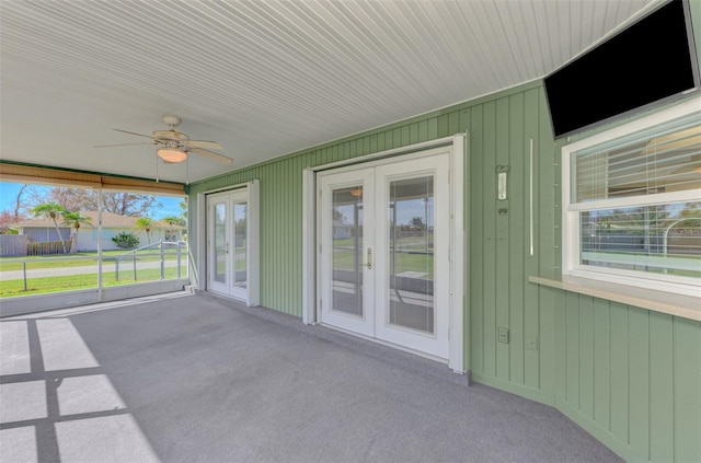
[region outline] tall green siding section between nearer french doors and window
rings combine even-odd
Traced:
[[[470,108],[470,368],[478,381],[552,403],[553,304],[528,282],[552,273],[555,166],[542,89]],[[530,140],[533,143],[533,250],[530,255]],[[508,199],[496,199],[496,166],[509,165]],[[506,209],[506,211],[504,211]],[[502,212],[499,213],[499,210]],[[541,300],[544,299],[544,300]],[[550,298],[552,299],[552,298]],[[497,329],[509,329],[509,343]],[[527,342],[536,348],[527,348]]]

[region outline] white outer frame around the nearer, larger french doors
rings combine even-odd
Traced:
[[[344,165],[365,163],[369,161],[387,159],[388,162],[397,162],[398,155],[407,158],[421,158],[428,153],[426,151],[444,149],[450,153],[449,182],[450,192],[450,282],[449,282],[449,323],[450,323],[450,351],[448,367],[456,373],[462,374],[466,371],[464,347],[466,347],[466,312],[464,302],[466,282],[466,258],[467,241],[464,228],[464,206],[466,206],[466,146],[467,135],[458,134],[452,137],[440,138],[424,143],[381,151],[366,157],[354,158],[347,161],[340,161],[315,167],[307,167],[303,171],[302,188],[302,322],[304,324],[315,324],[319,317],[319,296],[318,296],[318,269],[317,269],[317,172]]]

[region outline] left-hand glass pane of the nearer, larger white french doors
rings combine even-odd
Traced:
[[[363,316],[363,187],[333,190],[332,310]]]

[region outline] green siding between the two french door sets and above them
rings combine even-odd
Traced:
[[[531,92],[538,94],[540,90],[535,89]],[[197,217],[195,198],[198,193],[258,178],[262,205],[261,304],[301,317],[303,169],[468,131],[470,117],[470,109],[464,105],[194,183],[188,190],[188,216]],[[194,243],[196,240],[196,231],[193,230],[191,241]],[[193,250],[195,255],[196,251]]]

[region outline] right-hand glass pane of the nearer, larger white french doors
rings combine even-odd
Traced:
[[[434,333],[434,178],[390,182],[388,323]]]

